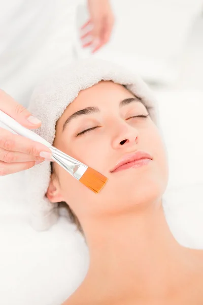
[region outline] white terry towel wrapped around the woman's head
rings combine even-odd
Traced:
[[[81,90],[101,80],[125,85],[130,92],[142,98],[157,124],[156,101],[138,75],[104,60],[90,58],[78,60],[57,71],[33,92],[28,109],[42,121],[41,128],[36,132],[52,144],[56,122],[66,107],[76,99]],[[49,202],[45,196],[50,174],[49,162],[43,162],[26,171],[31,225],[36,230],[49,229],[58,219],[58,204]]]

